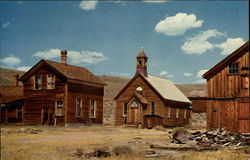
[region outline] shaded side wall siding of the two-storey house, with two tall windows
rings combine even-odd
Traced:
[[[68,83],[68,108],[66,123],[102,123],[104,88],[77,83]],[[76,117],[76,98],[82,99],[82,117]],[[96,101],[96,117],[90,118],[90,100]]]

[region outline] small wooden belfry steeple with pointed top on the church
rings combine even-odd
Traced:
[[[147,60],[143,47],[141,48],[139,54],[136,57],[136,73],[141,73],[143,76],[147,77]]]

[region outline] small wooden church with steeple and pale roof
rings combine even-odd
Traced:
[[[141,49],[134,77],[115,96],[115,124],[152,128],[189,123],[188,98],[168,79],[148,75],[148,57]]]

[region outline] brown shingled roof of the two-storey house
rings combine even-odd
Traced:
[[[36,71],[38,68],[40,68],[43,65],[48,65],[52,67],[57,72],[65,76],[67,79],[106,85],[102,80],[100,80],[96,75],[88,71],[86,68],[73,66],[69,64],[58,63],[58,62],[49,61],[49,60],[39,61],[26,74],[24,74],[20,78],[20,80],[25,80],[26,78],[30,77],[34,71]]]

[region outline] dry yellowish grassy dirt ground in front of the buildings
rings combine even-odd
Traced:
[[[1,160],[84,160],[84,159],[179,159],[250,160],[242,151],[221,149],[213,152],[151,149],[152,144],[170,143],[172,129],[135,129],[111,126],[1,126]],[[116,146],[129,146],[131,153],[115,155]],[[106,148],[106,158],[85,157],[96,148]],[[148,155],[148,153],[154,153]]]

